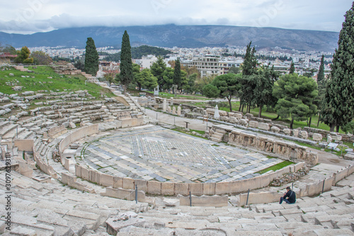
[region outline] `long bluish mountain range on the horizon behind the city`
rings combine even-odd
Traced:
[[[246,45],[252,40],[256,49],[281,47],[306,51],[334,52],[337,32],[316,30],[288,30],[240,26],[127,26],[63,28],[32,35],[0,32],[0,42],[13,47],[64,46],[81,47],[92,37],[96,47],[120,48],[124,30],[130,35],[132,46],[157,47],[227,47]]]

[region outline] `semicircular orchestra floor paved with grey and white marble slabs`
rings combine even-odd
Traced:
[[[154,125],[112,131],[87,144],[81,158],[105,174],[174,183],[249,179],[282,162]]]

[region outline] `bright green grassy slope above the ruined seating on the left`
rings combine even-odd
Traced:
[[[1,92],[4,94],[19,94],[23,91],[41,91],[43,94],[47,94],[50,91],[87,90],[96,99],[101,99],[101,95],[114,96],[108,89],[104,89],[97,84],[86,83],[85,85],[86,78],[81,74],[61,75],[55,73],[52,68],[45,66],[38,66],[35,69],[28,67],[28,69],[33,72],[20,72],[12,67],[0,67]],[[10,77],[10,73],[14,76]],[[48,77],[52,77],[52,79],[48,79]],[[13,91],[13,86],[22,86],[22,90]]]

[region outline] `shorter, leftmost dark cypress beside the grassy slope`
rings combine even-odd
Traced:
[[[98,52],[96,50],[95,41],[92,38],[87,38],[86,53],[85,53],[85,72],[96,77],[98,72]]]

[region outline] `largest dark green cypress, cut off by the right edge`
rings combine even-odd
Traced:
[[[354,2],[345,17],[321,111],[324,123],[337,132],[354,116]]]

